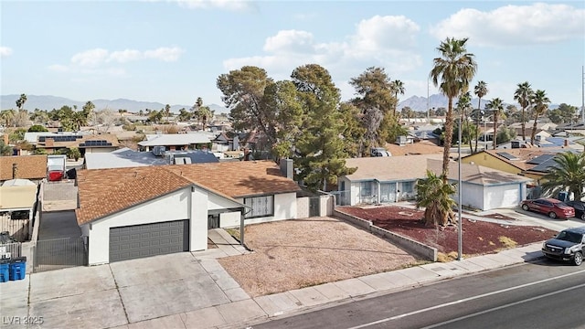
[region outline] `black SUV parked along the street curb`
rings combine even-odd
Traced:
[[[542,244],[542,253],[553,260],[569,260],[580,266],[583,262],[585,227],[563,229]]]

